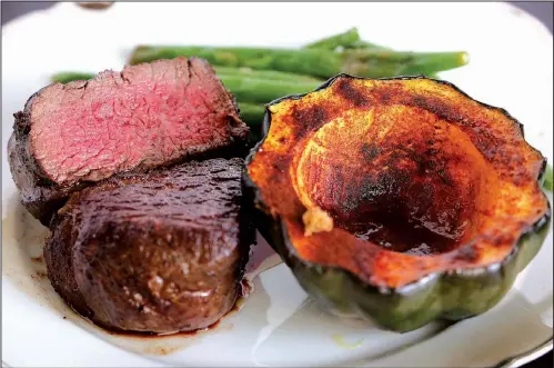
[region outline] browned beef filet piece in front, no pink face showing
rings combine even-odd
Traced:
[[[71,195],[44,248],[54,289],[114,330],[204,328],[228,312],[253,241],[242,160],[123,173]]]

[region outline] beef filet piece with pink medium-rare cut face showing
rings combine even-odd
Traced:
[[[9,160],[23,205],[48,225],[68,195],[114,173],[244,149],[248,127],[201,59],[177,58],[56,83],[14,115]]]

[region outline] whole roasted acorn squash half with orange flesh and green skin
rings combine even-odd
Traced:
[[[482,314],[547,233],[545,158],[451,83],[340,74],[268,105],[264,129],[258,227],[338,314],[395,331]]]

